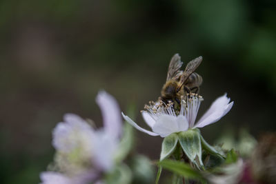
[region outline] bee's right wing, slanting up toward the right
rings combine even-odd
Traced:
[[[177,86],[177,91],[180,90],[180,88],[186,82],[186,80],[188,79],[190,74],[195,72],[197,67],[200,65],[201,61],[202,61],[202,57],[197,57],[196,59],[193,59],[192,61],[190,61],[187,64],[187,66],[186,66],[186,68],[185,68],[184,72],[182,73],[181,78],[179,80],[179,84]]]

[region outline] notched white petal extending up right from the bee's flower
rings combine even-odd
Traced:
[[[229,101],[230,99],[227,98],[226,94],[216,99],[195,127],[204,127],[219,121],[232,108],[234,102],[229,103]]]

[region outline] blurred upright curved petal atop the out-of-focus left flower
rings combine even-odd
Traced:
[[[107,92],[101,91],[96,98],[103,116],[104,129],[115,137],[121,134],[121,110],[116,99]]]

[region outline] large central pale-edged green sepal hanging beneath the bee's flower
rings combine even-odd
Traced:
[[[201,141],[198,130],[189,129],[178,133],[179,143],[182,150],[199,169],[204,167],[201,161]]]

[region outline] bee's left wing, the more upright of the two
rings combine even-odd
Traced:
[[[175,54],[170,60],[170,65],[168,65],[167,81],[177,79],[179,76],[181,76],[183,71],[179,69],[181,68],[182,64],[183,63],[180,61],[179,54]]]

